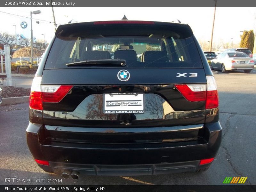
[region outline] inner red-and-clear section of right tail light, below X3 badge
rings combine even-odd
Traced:
[[[205,101],[206,84],[178,84],[175,87],[188,101]]]

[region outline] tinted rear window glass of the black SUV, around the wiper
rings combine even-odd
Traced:
[[[54,40],[45,68],[76,68],[66,64],[107,59],[124,59],[125,68],[203,68],[192,34],[184,28],[159,25],[89,25],[63,30]]]

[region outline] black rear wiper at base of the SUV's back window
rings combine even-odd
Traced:
[[[69,66],[83,66],[83,65],[107,65],[107,64],[113,64],[113,65],[120,65],[125,66],[126,61],[123,59],[100,59],[100,60],[87,60],[87,61],[78,61],[74,63],[68,63],[66,64]]]

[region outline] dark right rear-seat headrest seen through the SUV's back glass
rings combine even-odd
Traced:
[[[146,51],[143,55],[143,61],[145,62],[167,61],[167,54],[164,51]]]

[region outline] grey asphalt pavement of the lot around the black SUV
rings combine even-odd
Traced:
[[[0,185],[35,185],[33,181],[36,179],[41,180],[37,184],[43,185],[223,185],[226,177],[248,177],[245,184],[256,185],[256,70],[250,74],[218,72],[214,76],[219,91],[223,135],[218,155],[206,172],[62,179],[44,172],[34,162],[25,136],[28,103],[22,103],[0,106]],[[11,177],[30,179],[30,182],[5,182],[5,178]],[[62,180],[53,182],[53,179]]]

